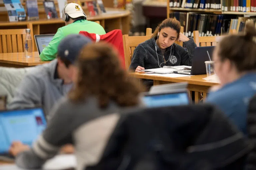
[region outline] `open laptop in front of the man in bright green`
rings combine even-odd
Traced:
[[[39,55],[43,51],[43,49],[52,41],[53,36],[55,34],[43,34],[43,35],[35,35],[36,47],[39,52]]]

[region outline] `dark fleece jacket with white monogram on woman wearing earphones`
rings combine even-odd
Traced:
[[[164,53],[164,58],[166,63],[164,63],[163,54],[156,45],[156,40],[154,38],[149,39],[145,42],[140,43],[134,50],[132,61],[130,65],[130,69],[134,70],[138,67],[144,67],[145,69],[151,69],[151,68],[159,68],[159,65],[163,67],[166,66],[177,66],[177,65],[192,65],[192,59],[194,56],[194,51],[196,44],[192,38],[190,38],[189,41],[183,42],[183,46],[187,48],[183,48],[182,46],[173,43],[173,46],[166,48],[166,51]],[[171,50],[172,48],[172,50]],[[157,55],[156,55],[156,49],[157,49]],[[170,57],[171,54],[171,57]],[[169,59],[170,57],[170,59]],[[159,62],[158,62],[159,60]],[[159,63],[159,65],[158,65]],[[145,83],[147,86],[153,85],[153,80],[145,80]]]

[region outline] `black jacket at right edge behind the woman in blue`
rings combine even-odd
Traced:
[[[249,104],[247,132],[248,138],[254,147],[248,155],[246,170],[256,170],[256,95],[251,99]]]

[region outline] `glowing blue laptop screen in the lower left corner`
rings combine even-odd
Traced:
[[[45,127],[41,108],[0,112],[0,153],[7,152],[13,141],[31,146]]]

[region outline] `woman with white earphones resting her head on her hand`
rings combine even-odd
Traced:
[[[130,69],[139,72],[142,69],[160,68],[165,65],[191,66],[196,44],[193,38],[187,38],[180,33],[180,27],[180,22],[176,19],[168,18],[162,21],[151,39],[140,43],[135,48]],[[184,42],[183,45],[187,50],[175,44],[176,40]]]

